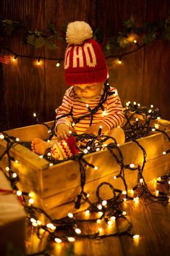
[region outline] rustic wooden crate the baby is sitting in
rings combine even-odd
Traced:
[[[166,120],[154,121],[159,124],[159,128],[166,131],[170,136],[170,122]],[[50,124],[50,123],[48,123]],[[9,135],[19,137],[21,141],[31,141],[38,137],[48,138],[47,129],[44,125],[31,125],[7,131]],[[147,153],[147,162],[143,176],[145,181],[166,175],[170,170],[170,154],[163,154],[169,149],[169,141],[163,133],[155,133],[138,140]],[[6,141],[0,140],[0,154],[6,148]],[[127,142],[120,146],[124,156],[124,164],[143,164],[143,152],[134,142]],[[82,204],[79,210],[75,209],[75,198],[80,193],[80,170],[79,164],[73,160],[61,162],[49,167],[49,162],[40,159],[38,154],[31,152],[25,146],[16,144],[11,149],[12,156],[18,163],[12,162],[12,168],[20,177],[18,187],[22,191],[35,192],[35,206],[46,210],[53,218],[61,218],[68,212],[77,212],[87,207]],[[120,178],[113,178],[119,174],[119,165],[116,163],[110,152],[105,149],[100,152],[86,154],[84,159],[93,165],[98,166],[98,170],[88,167],[86,171],[85,191],[90,194],[90,200],[96,201],[95,191],[103,181],[111,183],[116,189],[124,189]],[[7,158],[0,162],[1,168],[7,166]],[[137,170],[125,170],[125,179],[128,189],[132,189],[137,182]],[[111,191],[104,186],[101,197],[108,199]]]

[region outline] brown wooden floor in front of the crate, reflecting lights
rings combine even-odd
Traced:
[[[156,184],[149,184],[151,191]],[[160,185],[158,185],[160,186]],[[169,256],[170,255],[170,205],[163,206],[148,199],[140,198],[139,202],[122,203],[122,210],[127,212],[127,218],[132,222],[132,232],[140,234],[139,239],[129,236],[108,237],[105,239],[77,239],[73,243],[41,241],[35,235],[35,228],[27,228],[27,254],[41,252],[48,247],[48,254],[53,256]],[[84,214],[84,213],[82,213]],[[85,225],[83,234],[93,234],[101,226],[103,233],[116,231],[115,225],[104,227],[105,224]],[[124,220],[118,223],[120,230],[126,228]]]

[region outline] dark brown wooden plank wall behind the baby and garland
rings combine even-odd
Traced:
[[[62,28],[68,22],[85,20],[91,26],[103,28],[106,36],[116,36],[122,21],[133,15],[136,24],[164,19],[170,9],[169,0],[1,0],[1,18],[28,23],[30,30],[46,31],[53,22]],[[22,36],[10,37],[6,45],[18,54],[44,57],[63,57],[64,41],[58,50],[34,49],[22,41]],[[122,99],[136,101],[143,106],[159,107],[161,117],[170,120],[170,42],[155,41],[129,54],[117,65],[108,59],[110,83]],[[54,120],[56,107],[61,104],[67,85],[63,65],[43,60],[41,66],[34,59],[17,58],[17,62],[0,66],[0,130],[34,123],[33,112],[39,120]]]

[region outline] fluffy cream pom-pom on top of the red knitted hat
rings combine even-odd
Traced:
[[[84,21],[70,22],[67,25],[66,41],[69,45],[80,45],[83,41],[93,37],[93,30]]]

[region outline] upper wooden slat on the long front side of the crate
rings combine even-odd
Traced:
[[[139,139],[138,141],[147,152],[147,160],[159,157],[162,155],[163,151],[169,149],[169,141],[162,133],[157,133],[153,136]],[[138,165],[143,161],[143,152],[134,142],[123,144],[120,146],[120,149],[124,156],[125,164],[129,165],[134,163],[135,165]],[[116,163],[114,158],[111,157],[108,150],[88,154],[84,158],[93,165],[98,166],[97,171],[93,170],[93,168],[87,168],[86,182],[109,175],[110,173],[113,173],[113,170],[115,169],[119,170],[119,165]],[[80,185],[79,165],[77,162],[73,161],[61,163],[49,169],[43,170],[42,178],[42,198],[49,197],[52,194],[56,194],[61,191],[72,189],[75,186]]]

